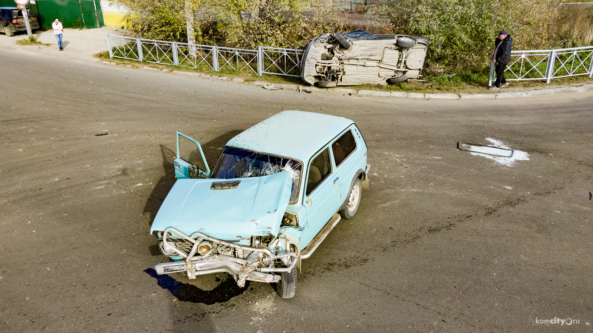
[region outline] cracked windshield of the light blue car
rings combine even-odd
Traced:
[[[298,184],[301,179],[301,163],[294,159],[227,147],[222,152],[211,178],[260,177],[280,171],[288,171],[291,174],[291,201],[294,201],[297,197]]]

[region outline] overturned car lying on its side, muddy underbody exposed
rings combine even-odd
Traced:
[[[422,76],[427,54],[423,37],[362,30],[324,34],[305,46],[301,79],[320,88],[396,84]]]

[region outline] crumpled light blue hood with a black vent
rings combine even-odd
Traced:
[[[216,181],[240,180],[236,188],[211,190]],[[218,239],[278,235],[291,197],[288,171],[262,177],[180,179],[158,210],[151,227],[173,227],[187,235],[199,231]]]

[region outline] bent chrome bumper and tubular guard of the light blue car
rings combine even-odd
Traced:
[[[241,250],[244,259],[232,257],[231,255],[212,254],[212,250],[205,255],[195,255],[197,245],[208,240],[216,245],[229,246]],[[286,272],[292,270],[297,264],[297,255],[293,252],[273,254],[267,248],[254,248],[251,246],[238,245],[216,239],[201,232],[194,232],[187,236],[185,233],[175,229],[167,228],[162,233],[162,248],[170,255],[178,255],[185,258],[184,261],[159,262],[155,265],[158,274],[187,272],[187,277],[226,272],[231,274],[240,287],[245,285],[246,280],[260,282],[278,282],[280,276],[267,272]],[[288,267],[274,267],[278,259],[291,257]]]

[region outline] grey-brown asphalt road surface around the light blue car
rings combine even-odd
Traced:
[[[593,92],[298,94],[0,58],[0,332],[591,330]],[[148,233],[174,183],[175,131],[212,165],[228,139],[282,110],[356,121],[372,165],[358,213],[303,261],[297,295],[238,289],[226,274],[156,276],[166,257]],[[486,138],[523,159],[456,149]]]

